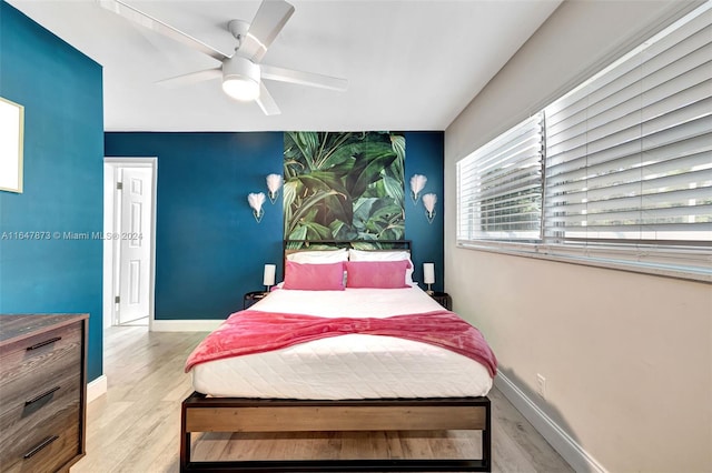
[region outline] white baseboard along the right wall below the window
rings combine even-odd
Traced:
[[[494,384],[576,472],[607,473],[507,376],[498,372]]]

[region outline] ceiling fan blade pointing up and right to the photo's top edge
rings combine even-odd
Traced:
[[[240,56],[259,62],[293,13],[294,7],[284,0],[263,0],[240,44]]]

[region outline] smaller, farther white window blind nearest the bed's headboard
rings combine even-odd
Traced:
[[[541,238],[543,115],[525,120],[457,163],[457,239]]]

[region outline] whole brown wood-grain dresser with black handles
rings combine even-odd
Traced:
[[[85,455],[88,314],[0,315],[0,472]]]

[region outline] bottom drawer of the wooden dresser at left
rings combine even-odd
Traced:
[[[3,473],[50,473],[66,466],[82,452],[79,437],[79,405],[48,419],[41,429],[17,433],[13,442],[0,451]]]

